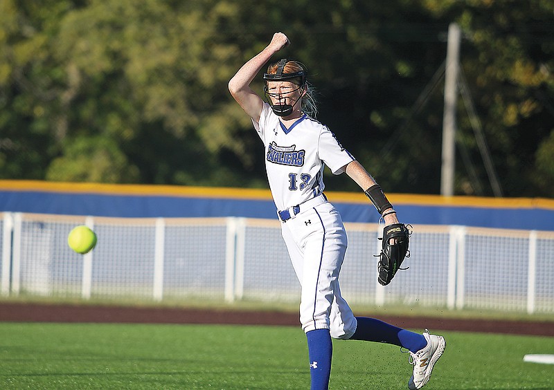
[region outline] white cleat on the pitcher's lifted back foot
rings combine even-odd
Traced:
[[[410,363],[413,364],[413,375],[408,382],[408,389],[421,389],[429,382],[431,371],[437,362],[438,358],[445,351],[445,337],[431,335],[429,330],[425,329],[423,333],[427,346],[420,349],[418,352],[410,352]]]

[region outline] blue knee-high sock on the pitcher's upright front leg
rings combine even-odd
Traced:
[[[307,351],[310,356],[312,390],[327,390],[331,376],[333,344],[329,329],[316,329],[306,333]]]

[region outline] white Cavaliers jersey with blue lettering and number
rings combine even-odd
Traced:
[[[278,210],[299,205],[323,192],[323,169],[333,174],[355,160],[323,124],[303,114],[288,129],[264,102],[254,128],[265,145],[269,188]]]

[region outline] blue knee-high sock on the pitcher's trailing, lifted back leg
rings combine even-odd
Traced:
[[[412,352],[417,352],[427,345],[427,340],[419,333],[406,331],[375,318],[356,317],[356,319],[358,326],[350,340],[385,342],[402,346]]]

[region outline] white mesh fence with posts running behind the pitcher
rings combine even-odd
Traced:
[[[300,295],[278,221],[0,215],[3,296],[296,302]],[[83,256],[66,237],[85,223],[98,245]],[[346,228],[341,288],[351,304],[554,313],[554,232],[416,225],[410,269],[383,287],[372,256],[379,226]]]

